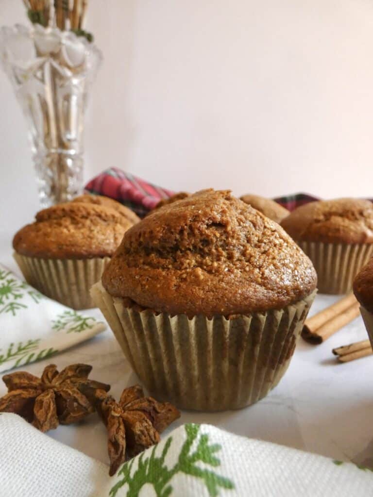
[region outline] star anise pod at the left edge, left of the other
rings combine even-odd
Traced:
[[[110,385],[89,380],[89,364],[71,364],[58,372],[55,364],[44,368],[41,378],[26,371],[2,377],[8,393],[0,399],[0,413],[15,413],[40,431],[61,424],[80,421],[94,412],[94,407],[80,388],[87,392],[107,392]]]

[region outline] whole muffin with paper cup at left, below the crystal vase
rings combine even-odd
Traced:
[[[90,288],[133,225],[130,217],[90,202],[55,205],[15,234],[14,258],[26,281],[48,297],[74,309],[93,307]]]

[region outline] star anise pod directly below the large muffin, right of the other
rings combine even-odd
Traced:
[[[103,390],[88,391],[85,385],[80,389],[91,400],[107,428],[110,476],[128,457],[158,443],[159,434],[180,417],[172,404],[144,397],[139,385],[126,388],[119,402]]]

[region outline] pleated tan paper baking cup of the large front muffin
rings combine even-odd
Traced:
[[[182,409],[224,411],[265,397],[285,373],[316,291],[280,310],[207,319],[125,307],[101,283],[93,300],[146,388]]]

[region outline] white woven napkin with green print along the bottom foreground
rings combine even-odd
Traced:
[[[208,424],[180,426],[112,478],[15,414],[0,414],[0,440],[1,497],[373,495],[370,470]]]

